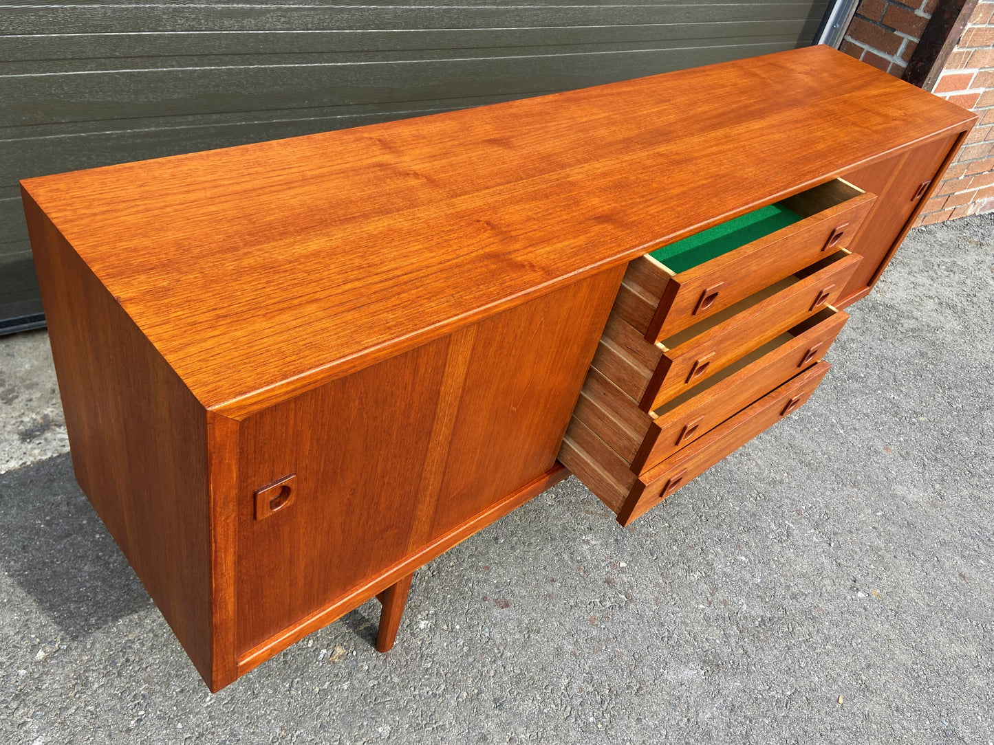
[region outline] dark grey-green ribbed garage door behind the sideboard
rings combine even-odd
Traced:
[[[41,311],[19,179],[803,47],[827,4],[4,4],[0,319]]]

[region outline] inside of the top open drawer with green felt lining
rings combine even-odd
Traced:
[[[649,255],[670,271],[679,274],[861,194],[863,192],[852,184],[834,179],[661,246]]]

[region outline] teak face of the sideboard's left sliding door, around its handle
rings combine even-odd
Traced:
[[[297,496],[261,521],[238,503],[238,654],[554,471],[623,272],[604,270],[240,422],[239,494],[295,473]]]

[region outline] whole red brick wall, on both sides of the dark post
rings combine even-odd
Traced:
[[[938,0],[862,0],[840,49],[901,77]],[[980,117],[917,218],[942,223],[994,212],[994,0],[979,0],[932,92]]]

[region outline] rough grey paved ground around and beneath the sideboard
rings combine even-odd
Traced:
[[[217,695],[0,339],[0,742],[991,743],[994,215],[912,231],[810,403],[625,530],[576,479]]]

